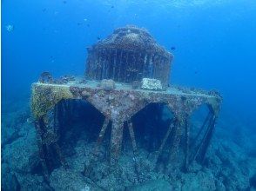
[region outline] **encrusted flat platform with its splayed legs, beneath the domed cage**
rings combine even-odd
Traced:
[[[158,156],[162,153],[165,146],[166,139],[171,135],[171,131],[173,131],[172,145],[169,145],[171,154],[169,159],[172,161],[179,148],[182,129],[185,129],[186,140],[185,168],[194,160],[204,160],[206,149],[212,138],[215,121],[219,115],[221,97],[218,93],[181,88],[168,88],[165,91],[131,89],[130,84],[123,83],[117,83],[115,89],[104,89],[99,87],[98,83],[100,82],[87,81],[86,83],[79,83],[73,81],[68,84],[53,84],[51,82],[36,82],[32,84],[31,109],[36,118],[37,142],[45,175],[48,175],[50,170],[46,162],[49,159],[47,155],[49,155],[50,148],[56,151],[58,161],[66,166],[64,157],[61,155],[57,144],[60,136],[57,130],[59,124],[57,112],[64,112],[65,108],[64,106],[59,106],[61,109],[56,109],[56,106],[58,102],[67,99],[82,99],[90,102],[92,106],[104,115],[104,123],[98,135],[97,146],[93,151],[93,155],[96,157],[92,161],[97,160],[98,146],[102,142],[110,122],[111,165],[116,164],[120,155],[125,122],[128,122],[131,146],[136,161],[138,148],[131,117],[152,102],[165,103],[174,115],[174,119],[167,129],[163,142],[156,152],[155,160],[158,160]],[[202,128],[205,128],[207,122],[208,126],[198,148],[192,154],[191,147],[189,146],[190,128],[188,121],[192,112],[203,104],[208,106],[209,115],[206,117]]]

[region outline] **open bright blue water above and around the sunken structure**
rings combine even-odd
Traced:
[[[2,109],[42,71],[84,75],[86,47],[126,24],[172,52],[171,84],[217,89],[229,130],[256,131],[254,0],[3,0]]]

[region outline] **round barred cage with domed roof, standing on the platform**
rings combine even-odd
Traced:
[[[154,78],[166,88],[171,62],[172,54],[158,45],[147,30],[128,25],[88,48],[85,76],[126,83]]]

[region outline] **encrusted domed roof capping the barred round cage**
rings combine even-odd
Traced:
[[[170,57],[171,53],[160,46],[145,29],[134,25],[127,25],[114,30],[111,36],[99,41],[94,49],[124,49],[146,53],[158,53],[161,56]]]

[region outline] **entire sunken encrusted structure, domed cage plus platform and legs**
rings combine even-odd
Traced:
[[[110,165],[118,162],[124,127],[128,128],[133,161],[137,163],[139,151],[135,137],[138,135],[134,131],[132,116],[150,103],[164,104],[173,113],[172,122],[158,150],[151,156],[152,160],[157,162],[164,147],[167,147],[170,151],[169,161],[172,162],[177,150],[182,147],[182,162],[185,168],[188,168],[192,161],[204,161],[219,115],[222,98],[218,92],[170,85],[172,54],[158,45],[147,30],[136,26],[128,25],[114,30],[111,36],[87,50],[88,58],[83,78],[64,76],[53,79],[49,72],[44,72],[39,82],[32,84],[30,104],[45,176],[49,175],[56,161],[68,167],[58,142],[61,115],[71,107],[69,102],[63,101],[71,99],[90,102],[104,115],[104,122],[91,154],[91,162],[84,175],[97,161],[99,145],[103,142],[107,128],[111,128],[108,159]],[[203,104],[207,105],[209,114],[197,135],[202,138],[198,146],[192,149],[188,120],[194,110]],[[167,142],[170,137],[172,142]],[[185,143],[182,145],[181,137],[185,137]]]

